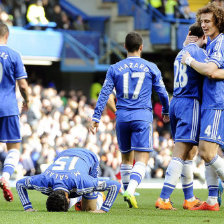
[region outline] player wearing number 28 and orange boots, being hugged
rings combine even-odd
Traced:
[[[197,152],[200,127],[200,102],[203,76],[194,69],[181,64],[184,52],[188,51],[201,62],[204,62],[207,54],[201,48],[206,43],[206,37],[200,24],[193,24],[190,35],[197,36],[196,43],[185,46],[174,61],[174,92],[170,103],[170,122],[175,147],[172,160],[165,175],[165,182],[156,201],[156,208],[174,209],[170,202],[170,195],[182,176],[184,191],[184,209],[191,209],[201,205],[201,201],[193,194],[193,167],[192,159]],[[191,157],[191,160],[189,160]],[[185,166],[185,170],[183,169]]]

